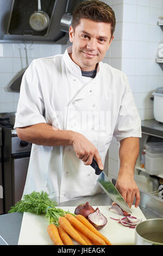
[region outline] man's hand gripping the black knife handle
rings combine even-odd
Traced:
[[[104,167],[97,148],[84,135],[75,132],[72,145],[78,159],[82,160],[86,166],[90,165],[94,158],[98,167],[103,170]]]

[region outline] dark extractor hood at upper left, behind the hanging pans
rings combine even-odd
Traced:
[[[0,0],[0,42],[67,44],[66,26],[70,26],[73,10],[80,2],[83,1],[41,0],[41,10],[48,14],[49,23],[43,31],[35,31],[30,27],[29,17],[38,10],[37,0]]]

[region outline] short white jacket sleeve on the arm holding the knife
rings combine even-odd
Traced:
[[[44,113],[45,105],[41,84],[33,60],[22,78],[14,129],[16,127],[46,123]]]

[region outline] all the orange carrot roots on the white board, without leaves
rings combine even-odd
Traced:
[[[58,227],[53,223],[47,227],[54,245],[73,245],[72,238],[80,245],[111,245],[83,215],[65,214],[58,218],[58,222]]]

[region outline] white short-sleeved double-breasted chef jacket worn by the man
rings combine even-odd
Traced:
[[[95,78],[64,54],[33,60],[22,78],[16,127],[47,123],[82,133],[99,151],[104,164],[112,136],[117,141],[141,137],[141,120],[128,78],[103,62]],[[55,131],[54,131],[55,132]],[[73,147],[32,145],[23,194],[45,191],[57,202],[101,192],[98,176],[79,160]]]

